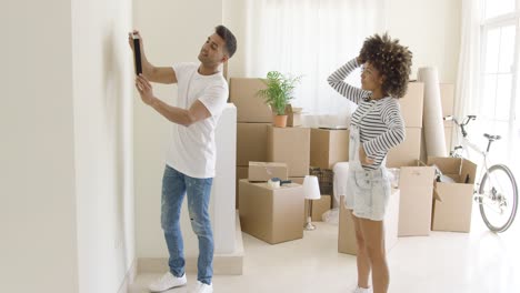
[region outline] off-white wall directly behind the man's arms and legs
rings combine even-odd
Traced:
[[[222,0],[134,0],[134,23],[142,37],[148,59],[156,65],[198,62],[197,55],[213,28],[222,22]],[[171,103],[177,85],[154,85],[154,93]],[[138,257],[167,257],[160,225],[161,180],[170,122],[134,93],[134,184]],[[181,214],[187,255],[198,253],[186,201]]]

